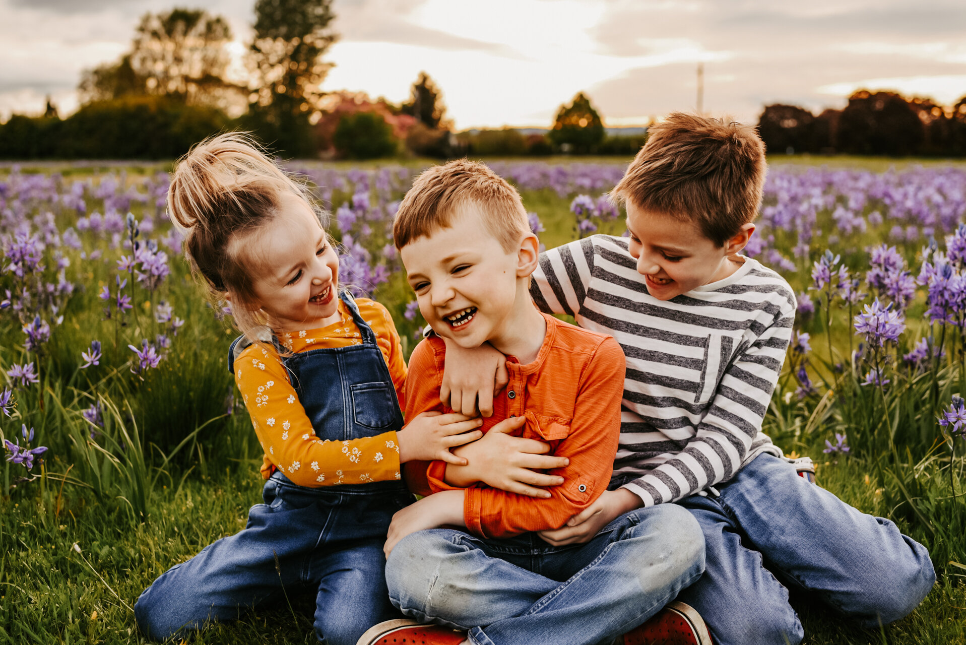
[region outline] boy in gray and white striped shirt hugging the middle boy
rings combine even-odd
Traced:
[[[627,356],[611,491],[541,536],[581,544],[631,509],[678,502],[707,549],[704,575],[679,599],[720,645],[800,642],[785,585],[877,626],[910,612],[935,581],[925,548],[796,477],[761,433],[795,313],[781,276],[738,255],[764,176],[753,128],[672,114],[613,190],[630,239],[547,251],[530,289],[541,310],[611,334]],[[468,356],[450,358],[471,369]],[[453,389],[465,402],[455,407],[473,407],[475,385]]]

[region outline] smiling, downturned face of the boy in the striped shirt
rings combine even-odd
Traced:
[[[753,224],[745,227],[736,238],[718,246],[705,238],[693,221],[627,202],[631,256],[638,261],[648,293],[659,300],[669,300],[730,275],[733,266],[729,266],[727,256],[740,251],[754,230]]]

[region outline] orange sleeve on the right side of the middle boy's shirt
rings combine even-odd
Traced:
[[[569,465],[550,471],[564,483],[549,489],[547,499],[535,499],[489,488],[466,490],[464,517],[473,533],[504,538],[557,528],[579,514],[611,480],[620,435],[620,400],[624,391],[624,352],[611,337],[601,340],[581,375],[570,434],[554,455]]]

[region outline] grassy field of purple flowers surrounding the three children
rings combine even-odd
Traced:
[[[624,165],[491,165],[548,247],[621,235],[603,195]],[[341,279],[388,307],[409,351],[421,321],[391,223],[419,169],[290,170],[331,213]],[[0,642],[135,639],[141,589],[257,501],[258,442],[225,369],[230,310],[192,282],[167,186],[151,166],[0,169]],[[964,221],[963,167],[769,171],[747,253],[788,279],[798,321],[765,432],[922,541],[941,580],[881,633],[806,603],[808,642],[966,642]],[[270,616],[198,642],[310,631],[298,605]]]

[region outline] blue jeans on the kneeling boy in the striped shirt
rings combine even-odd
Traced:
[[[678,600],[719,645],[801,642],[785,585],[876,627],[912,611],[936,580],[928,552],[892,521],[860,513],[772,455],[718,490],[679,502],[704,531],[707,567]]]

